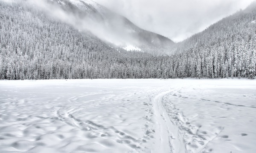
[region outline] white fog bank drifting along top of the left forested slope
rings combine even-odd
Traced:
[[[73,28],[80,31],[89,31],[99,39],[106,42],[111,42],[115,45],[126,45],[126,42],[131,42],[131,37],[128,32],[123,31],[125,26],[122,20],[112,20],[111,23],[115,25],[113,27],[104,20],[98,20],[93,16],[79,15],[79,13],[71,13],[70,11],[64,11],[60,5],[52,5],[47,3],[48,0],[27,0],[31,6],[35,6],[41,11],[45,12],[48,16],[55,20],[60,20]]]

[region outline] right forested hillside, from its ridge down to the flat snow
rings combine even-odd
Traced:
[[[256,1],[174,45],[177,77],[253,79],[256,72]]]

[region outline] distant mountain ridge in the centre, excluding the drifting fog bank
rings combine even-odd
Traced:
[[[79,16],[79,22],[81,20],[90,20],[90,24],[95,25],[97,23],[96,27],[99,28],[97,31],[95,31],[95,26],[87,30],[107,42],[122,47],[133,45],[152,54],[166,54],[168,52],[167,50],[174,45],[172,40],[160,34],[139,28],[126,17],[116,14],[92,0],[49,1],[58,4],[66,12],[72,12],[76,14],[76,16]],[[108,37],[101,36],[102,34],[99,34],[98,31],[104,31],[103,34]],[[154,48],[154,50],[152,50],[152,48]]]

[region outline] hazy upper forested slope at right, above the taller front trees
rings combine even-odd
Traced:
[[[216,50],[216,47],[212,47],[212,45],[220,42],[223,44],[243,42],[241,40],[245,40],[249,35],[255,34],[256,25],[253,24],[255,23],[255,17],[256,1],[253,1],[246,9],[224,17],[204,31],[194,34],[182,42],[175,43],[172,52],[183,52],[190,49],[198,50],[198,48],[203,48],[202,46],[204,46],[204,48],[215,48]],[[250,37],[245,41],[250,41]],[[252,38],[253,37],[254,36],[252,36]],[[237,41],[234,41],[236,39]]]

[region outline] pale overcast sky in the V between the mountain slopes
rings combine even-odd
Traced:
[[[175,42],[200,32],[253,0],[94,0],[137,26]]]

